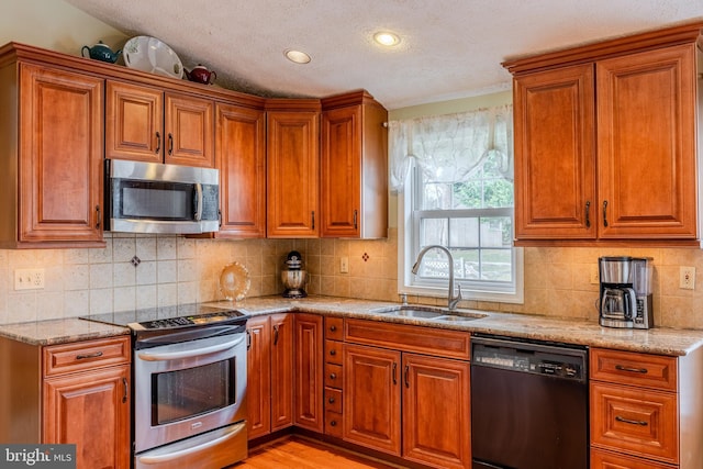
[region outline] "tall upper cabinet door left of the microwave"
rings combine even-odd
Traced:
[[[19,242],[102,244],[102,79],[20,66]]]

